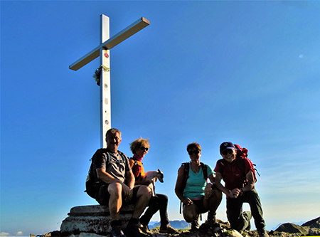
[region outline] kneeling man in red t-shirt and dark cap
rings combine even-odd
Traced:
[[[232,142],[220,144],[219,159],[215,166],[215,186],[227,196],[227,217],[231,228],[237,231],[250,230],[251,215],[260,237],[267,237],[265,220],[262,217],[260,198],[255,190],[255,176],[252,162],[237,155]],[[225,186],[221,184],[221,179]],[[247,202],[250,211],[242,213],[242,204]]]

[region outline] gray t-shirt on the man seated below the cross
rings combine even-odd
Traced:
[[[119,154],[119,152],[109,152],[109,154],[110,162],[107,164],[107,149],[97,150],[93,162],[95,164],[95,169],[105,169],[112,177],[124,182],[125,173],[131,170],[128,157],[122,153],[124,155],[124,159],[122,159],[122,155]]]

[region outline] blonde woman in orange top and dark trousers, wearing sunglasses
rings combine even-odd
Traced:
[[[149,151],[149,140],[148,139],[135,139],[130,144],[130,149],[132,151],[133,157],[129,159],[129,164],[132,167],[132,172],[135,177],[135,185],[149,185],[150,181],[144,179],[146,173],[144,172],[144,167],[142,164],[142,159]],[[169,224],[167,206],[168,206],[168,196],[164,194],[155,194],[151,196],[148,204],[148,209],[146,209],[143,216],[140,217],[139,221],[142,227],[140,228],[144,233],[150,233],[148,224],[156,214],[157,211],[160,213],[160,230],[161,233],[178,233],[178,231],[171,227]]]

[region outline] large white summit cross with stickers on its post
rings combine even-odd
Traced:
[[[149,21],[142,17],[110,38],[109,17],[103,14],[100,15],[100,45],[69,66],[71,70],[78,70],[100,56],[100,65],[102,66],[100,74],[101,147],[107,147],[105,142],[105,133],[111,128],[110,49],[114,46],[117,46],[119,43],[134,35],[134,33],[142,30],[146,26],[149,26]]]

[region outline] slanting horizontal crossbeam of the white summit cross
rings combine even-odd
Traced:
[[[150,22],[142,17],[141,19],[135,21],[124,30],[120,31],[116,35],[112,36],[112,38],[108,39],[104,43],[101,43],[100,46],[97,46],[95,49],[87,53],[82,58],[75,61],[75,63],[71,64],[69,68],[71,70],[78,70],[82,68],[87,63],[90,63],[92,60],[100,56],[100,48],[110,49],[114,46],[117,46],[119,43],[134,35],[138,31],[142,30],[144,27],[149,26]]]

